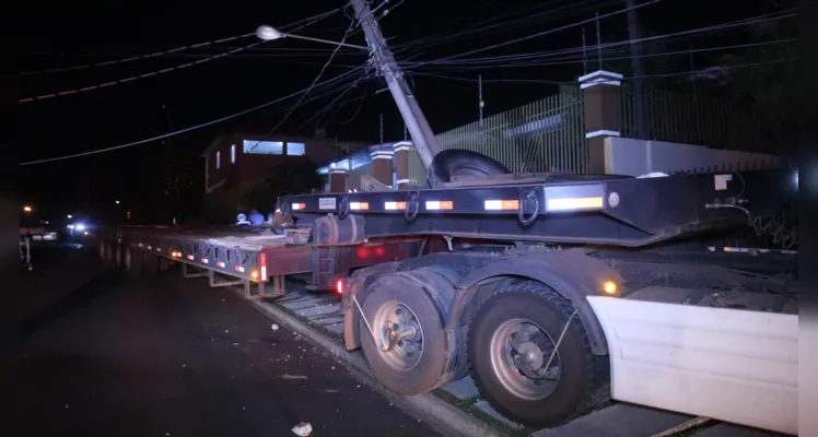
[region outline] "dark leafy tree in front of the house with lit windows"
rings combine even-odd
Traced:
[[[273,168],[270,177],[244,192],[243,203],[248,209],[270,212],[278,198],[287,194],[308,193],[320,189],[324,178],[318,167],[306,157],[294,157]]]

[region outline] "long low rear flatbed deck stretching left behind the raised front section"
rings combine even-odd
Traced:
[[[322,247],[307,241],[311,229],[167,226],[122,226],[103,229],[102,236],[161,259],[206,269],[241,280],[247,297],[280,297],[287,275],[311,273],[314,290],[332,288],[338,272],[401,259],[418,253],[420,239],[374,240],[357,246]],[[120,256],[114,256],[119,258]],[[273,290],[266,285],[272,282]],[[255,288],[255,290],[253,290]]]

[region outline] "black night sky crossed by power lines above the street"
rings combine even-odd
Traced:
[[[764,2],[741,3],[744,8],[729,7],[727,2],[724,9],[717,9],[718,2],[714,1],[665,0],[640,9],[639,20],[643,34],[663,35],[767,12]],[[30,35],[20,38],[23,46],[19,49],[21,98],[161,71],[259,40],[247,36],[113,66],[31,74],[34,71],[110,61],[249,34],[259,24],[284,26],[339,10],[343,4],[342,0],[52,3],[47,14],[40,14],[36,25],[25,32]],[[379,0],[374,4],[379,4]],[[478,74],[484,82],[488,116],[556,93],[557,83],[573,81],[583,73],[581,55],[574,54],[568,60],[539,67],[519,67],[519,60],[515,61],[516,67],[515,62],[498,60],[483,62],[477,69],[465,69],[461,63],[413,67],[413,62],[433,61],[565,26],[592,19],[597,12],[604,15],[621,10],[624,2],[392,0],[379,11],[387,8],[392,9],[381,20],[384,34],[398,61],[406,62],[410,83],[432,128],[442,132],[477,119],[478,85],[475,81]],[[339,11],[296,33],[340,40],[349,24],[349,16]],[[584,27],[587,44],[595,44],[595,25]],[[626,14],[603,20],[600,33],[604,43],[627,39]],[[696,48],[717,47],[749,39],[747,29],[738,27],[670,38],[663,50],[683,50],[691,45]],[[362,33],[354,31],[347,42],[365,44]],[[581,46],[581,27],[572,27],[460,60]],[[265,104],[307,87],[332,50],[332,46],[279,39],[177,71],[101,90],[21,103],[20,161],[116,146]],[[627,47],[618,50],[619,56],[628,55]],[[700,51],[693,58],[685,54],[657,57],[661,61],[650,62],[645,73],[658,75],[687,71],[691,70],[692,62],[701,68],[713,62],[714,56],[723,54]],[[588,54],[588,70],[593,71],[596,69],[595,55]],[[363,66],[366,59],[366,52],[340,49],[320,81],[349,73]],[[355,87],[349,90],[353,83]],[[311,134],[322,126],[330,137],[376,143],[378,118],[383,114],[385,139],[402,139],[402,120],[384,88],[383,81],[374,78],[371,70],[352,71],[331,85],[313,90],[305,103],[296,107],[277,131]],[[336,106],[328,108],[344,91],[346,94],[335,101]],[[315,97],[322,98],[312,101]],[[92,205],[113,205],[114,200],[139,203],[144,208],[152,197],[159,196],[155,181],[160,179],[161,157],[167,147],[171,147],[179,168],[200,172],[199,152],[219,132],[267,133],[296,101],[297,96],[175,135],[164,140],[164,144],[156,140],[109,153],[21,167],[21,200],[36,205],[44,216],[51,217],[61,217]],[[320,116],[311,121],[318,113]]]

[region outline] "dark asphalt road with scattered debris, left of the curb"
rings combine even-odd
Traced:
[[[307,422],[314,436],[436,435],[271,323],[203,280],[104,274],[23,330],[21,430],[288,436]]]

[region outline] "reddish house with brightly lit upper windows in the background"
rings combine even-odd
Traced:
[[[322,131],[314,137],[219,135],[201,153],[204,158],[204,217],[211,223],[232,220],[242,206],[247,189],[293,160],[307,157],[316,166],[322,166],[358,146],[357,143],[326,138]]]

